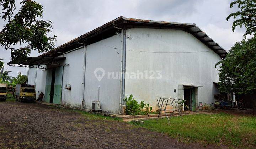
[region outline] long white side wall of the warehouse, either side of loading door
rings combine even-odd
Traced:
[[[114,49],[111,47],[116,47]],[[80,108],[82,103],[84,75],[84,47],[61,55],[66,57],[63,68],[62,105]],[[68,65],[67,65],[68,64]],[[94,70],[103,68],[105,76],[101,81]],[[44,73],[45,72],[45,73]],[[108,72],[121,72],[121,34],[87,46],[85,74],[85,109],[91,110],[91,101],[100,100],[103,111],[118,113],[120,99],[120,79],[108,79]],[[28,82],[34,84],[36,69],[30,68]],[[45,92],[46,71],[37,70],[36,92]],[[71,90],[64,88],[71,84]],[[39,88],[40,87],[40,88]],[[43,88],[41,88],[43,87]],[[100,89],[98,89],[100,87]],[[98,96],[100,95],[100,96]]]

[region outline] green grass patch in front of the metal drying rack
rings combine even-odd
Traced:
[[[182,142],[202,142],[239,147],[242,144],[256,145],[256,117],[234,116],[230,114],[197,114],[170,119],[166,118],[134,123],[151,131],[168,134]],[[249,141],[249,142],[248,142]]]

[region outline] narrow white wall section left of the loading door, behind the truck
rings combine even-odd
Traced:
[[[46,67],[46,65],[42,65]],[[37,65],[34,65],[37,67]],[[39,66],[38,68],[42,68]],[[45,94],[45,84],[46,84],[46,71],[44,69],[29,68],[28,70],[28,84],[36,85],[36,99],[39,97],[39,94],[43,92]]]

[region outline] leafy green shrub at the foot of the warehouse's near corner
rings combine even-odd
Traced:
[[[139,115],[140,114],[140,105],[133,99],[133,95],[130,95],[129,98],[125,97],[124,101],[126,102],[126,114],[127,115]]]

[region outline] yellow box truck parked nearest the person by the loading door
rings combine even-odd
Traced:
[[[15,89],[16,101],[36,101],[36,92],[34,85],[17,84]]]

